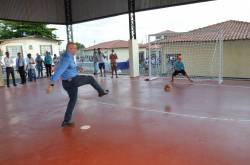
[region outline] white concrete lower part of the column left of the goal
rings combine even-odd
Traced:
[[[136,39],[129,40],[129,75],[138,77],[139,73],[139,47]]]

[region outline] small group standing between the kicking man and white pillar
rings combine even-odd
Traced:
[[[98,48],[97,51],[96,51],[96,49],[94,49],[94,53],[93,53],[94,75],[97,75],[97,65],[98,65],[101,77],[102,76],[106,77],[106,72],[105,72],[106,58],[107,57],[101,52],[100,48]],[[114,73],[115,73],[116,78],[118,78],[118,75],[117,75],[117,59],[118,59],[118,57],[117,57],[114,49],[112,49],[112,52],[109,55],[111,73],[112,73],[111,78],[113,78]]]

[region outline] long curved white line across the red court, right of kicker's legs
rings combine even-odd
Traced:
[[[85,100],[85,99],[83,99]],[[101,102],[101,101],[92,101],[92,100],[85,100],[89,102],[94,102],[98,104],[103,104],[103,105],[109,105],[113,107],[119,107],[120,105],[118,104],[112,104],[112,103],[107,103],[107,102]],[[190,114],[182,114],[182,113],[174,113],[174,112],[165,112],[165,111],[160,111],[157,109],[146,109],[146,108],[141,108],[141,107],[128,107],[124,106],[123,108],[130,108],[134,109],[137,111],[142,111],[142,112],[154,112],[154,113],[161,113],[161,114],[167,114],[167,115],[172,115],[172,116],[177,116],[177,117],[184,117],[184,118],[193,118],[193,119],[207,119],[207,120],[215,120],[215,121],[231,121],[231,122],[250,122],[250,119],[233,119],[233,118],[224,118],[224,117],[207,117],[207,116],[198,116],[198,115],[190,115]],[[111,109],[112,110],[112,109]]]

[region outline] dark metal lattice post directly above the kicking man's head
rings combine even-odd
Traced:
[[[67,42],[73,42],[74,39],[73,39],[71,0],[64,0],[64,7],[65,7]]]

